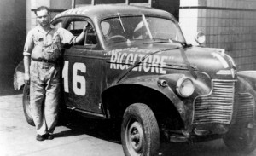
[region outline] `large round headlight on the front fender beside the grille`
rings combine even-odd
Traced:
[[[177,80],[176,91],[182,97],[189,97],[194,93],[195,86],[193,81],[188,77],[179,78]]]

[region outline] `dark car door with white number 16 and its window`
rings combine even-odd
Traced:
[[[83,31],[86,18],[70,18],[64,26],[74,36]],[[64,48],[62,84],[67,107],[101,115],[103,55],[92,22],[84,41]]]

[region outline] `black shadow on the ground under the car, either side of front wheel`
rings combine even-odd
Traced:
[[[73,116],[68,114],[66,124],[70,130],[61,131],[55,137],[89,135],[96,138],[121,144],[120,124],[113,121],[91,119]],[[67,122],[68,120],[68,122]],[[63,123],[62,123],[63,124]],[[233,153],[224,146],[224,142],[219,139],[211,142],[198,143],[169,143],[161,142],[161,156],[246,156],[247,154]]]

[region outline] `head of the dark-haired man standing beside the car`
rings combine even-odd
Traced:
[[[49,26],[49,8],[44,6],[38,7],[38,9],[35,10],[35,14],[37,15],[37,20],[40,26]]]

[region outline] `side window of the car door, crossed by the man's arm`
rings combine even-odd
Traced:
[[[74,36],[78,37],[80,33],[83,31],[84,25],[86,21],[85,20],[72,20],[68,23],[67,25],[67,30],[71,32]],[[84,41],[78,43],[78,45],[84,45],[84,46],[90,46],[90,45],[96,45],[97,44],[97,39],[96,39],[96,32],[89,24],[87,26],[84,37]]]

